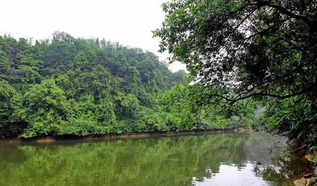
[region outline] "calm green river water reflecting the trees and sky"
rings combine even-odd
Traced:
[[[1,186],[287,186],[307,170],[263,132],[0,144]]]

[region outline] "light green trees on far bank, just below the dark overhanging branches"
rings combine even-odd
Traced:
[[[160,97],[169,121],[176,130],[228,129],[252,127],[261,117],[255,114],[256,104],[239,101],[233,108],[237,114],[232,116],[223,112],[225,105],[215,103],[201,104],[206,88],[200,85],[176,85]]]

